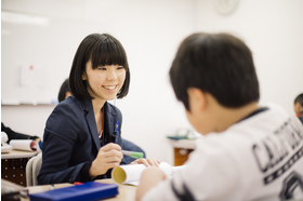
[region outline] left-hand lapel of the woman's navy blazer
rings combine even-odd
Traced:
[[[101,145],[100,145],[98,134],[97,134],[97,129],[96,129],[96,122],[95,122],[92,100],[84,99],[83,104],[84,104],[83,110],[87,111],[87,115],[85,115],[87,123],[89,125],[92,139],[96,146],[96,150],[98,150]]]

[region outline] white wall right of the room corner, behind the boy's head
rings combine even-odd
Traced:
[[[228,31],[250,46],[261,86],[261,102],[293,112],[303,93],[303,1],[241,0],[230,15],[221,15],[212,0],[197,0],[195,31]]]

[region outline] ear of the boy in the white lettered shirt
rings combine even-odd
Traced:
[[[197,88],[188,88],[189,106],[195,110],[203,111],[207,105],[206,93]]]

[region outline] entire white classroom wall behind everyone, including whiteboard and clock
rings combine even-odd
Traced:
[[[302,0],[2,0],[1,121],[41,136],[80,41],[107,32],[123,44],[130,92],[116,106],[122,137],[173,163],[167,135],[190,129],[168,71],[196,31],[230,32],[252,50],[261,103],[293,112],[303,92]]]

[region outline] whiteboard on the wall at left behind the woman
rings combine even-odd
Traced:
[[[84,19],[48,17],[43,25],[2,21],[1,104],[56,104],[79,43],[102,32],[100,27]]]

